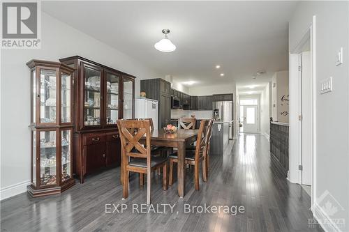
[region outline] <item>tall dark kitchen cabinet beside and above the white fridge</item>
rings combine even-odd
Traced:
[[[158,129],[165,127],[171,120],[171,84],[164,79],[144,79],[140,89],[147,93],[147,98],[158,100]],[[174,95],[179,94],[176,91]]]

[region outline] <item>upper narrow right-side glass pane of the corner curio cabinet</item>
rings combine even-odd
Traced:
[[[61,72],[61,123],[71,123],[71,75]]]

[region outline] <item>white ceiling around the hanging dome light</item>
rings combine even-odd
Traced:
[[[195,86],[265,86],[288,70],[288,20],[295,1],[43,1],[42,9],[134,59]],[[170,29],[177,46],[158,52],[154,43]],[[221,65],[216,70],[215,65]],[[260,70],[267,73],[252,79]],[[225,76],[220,77],[219,73]],[[262,87],[261,87],[262,88]]]

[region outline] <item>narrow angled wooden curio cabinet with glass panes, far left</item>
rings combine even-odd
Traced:
[[[73,179],[73,72],[31,60],[31,196],[59,194]]]

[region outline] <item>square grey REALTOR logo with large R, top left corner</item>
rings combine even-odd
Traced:
[[[40,48],[40,2],[3,2],[1,8],[1,48]]]

